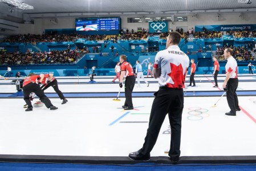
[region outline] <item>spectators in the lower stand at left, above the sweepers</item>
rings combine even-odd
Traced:
[[[0,51],[0,64],[71,64],[80,58],[76,50],[62,50],[50,52],[26,52],[25,54],[15,51]]]

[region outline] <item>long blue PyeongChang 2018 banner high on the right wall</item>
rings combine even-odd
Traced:
[[[253,31],[256,25],[197,25],[195,31]]]

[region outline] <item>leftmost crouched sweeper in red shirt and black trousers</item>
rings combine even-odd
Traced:
[[[30,100],[30,93],[34,92],[36,96],[40,98],[40,100],[46,105],[47,108],[50,108],[51,110],[58,109],[54,105],[52,105],[51,101],[48,99],[46,95],[44,95],[44,92],[40,88],[39,84],[42,83],[42,80],[44,78],[44,74],[36,75],[36,74],[29,74],[27,78],[24,79],[23,82],[23,95],[24,100],[26,104],[28,105],[28,108],[25,111],[32,111],[33,107]],[[39,82],[38,82],[39,80]],[[38,84],[36,84],[38,82]]]

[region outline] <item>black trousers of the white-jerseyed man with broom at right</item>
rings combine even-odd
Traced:
[[[229,104],[229,108],[231,113],[235,113],[236,109],[239,108],[237,93],[235,92],[238,87],[238,79],[230,78],[227,81],[227,104]]]

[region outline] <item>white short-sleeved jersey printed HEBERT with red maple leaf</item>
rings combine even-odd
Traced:
[[[189,57],[176,45],[156,54],[154,68],[161,68],[159,86],[184,88],[185,75],[189,67]]]

